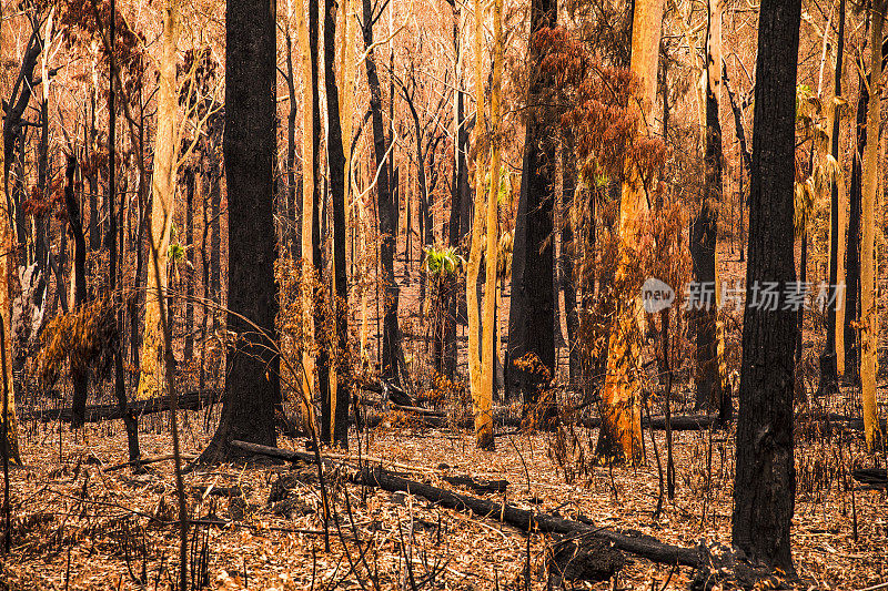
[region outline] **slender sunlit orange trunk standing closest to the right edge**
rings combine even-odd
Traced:
[[[867,449],[875,450],[878,424],[876,406],[876,365],[879,340],[878,300],[876,284],[876,191],[879,174],[879,123],[881,101],[879,83],[882,65],[882,29],[885,0],[872,2],[872,29],[870,31],[869,104],[867,105],[867,147],[864,153],[862,179],[862,233],[860,240],[860,386],[864,403],[864,432]]]

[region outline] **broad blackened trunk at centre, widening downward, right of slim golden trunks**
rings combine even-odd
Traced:
[[[556,0],[533,0],[531,3],[531,39],[544,27],[557,22]],[[554,84],[551,74],[541,72],[543,54],[531,42],[532,80],[528,92],[527,128],[524,142],[521,195],[515,220],[512,255],[512,300],[508,328],[508,384],[506,389],[524,395],[524,411],[536,405],[546,377],[515,365],[528,354],[545,366],[549,378],[555,375],[555,303],[552,210],[555,203],[554,113],[542,106]],[[554,410],[554,409],[553,409]],[[543,412],[548,418],[549,411]]]

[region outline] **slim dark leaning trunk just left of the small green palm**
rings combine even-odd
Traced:
[[[362,20],[364,45],[373,44],[373,7],[370,0],[363,0],[364,14]],[[382,376],[395,385],[400,385],[397,364],[397,299],[398,287],[395,283],[394,254],[395,254],[395,223],[397,210],[392,198],[389,186],[389,174],[385,162],[387,145],[382,118],[382,89],[376,72],[376,58],[371,50],[365,60],[367,68],[367,85],[370,86],[370,109],[373,123],[373,147],[376,155],[376,169],[382,169],[376,182],[377,207],[380,218],[380,262],[382,264],[383,284],[383,338],[382,338]]]

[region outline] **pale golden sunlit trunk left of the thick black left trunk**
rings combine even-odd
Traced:
[[[180,28],[178,0],[168,0],[163,9],[163,45],[160,61],[158,93],[158,131],[154,139],[154,172],[151,175],[151,227],[145,291],[145,326],[142,336],[139,391],[144,400],[160,396],[163,390],[163,330],[160,298],[167,294],[167,258],[175,202],[176,116],[179,93],[175,82],[176,43]]]

